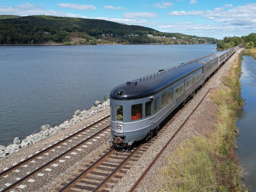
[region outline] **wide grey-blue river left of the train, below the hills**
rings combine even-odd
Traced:
[[[71,119],[121,83],[212,52],[216,45],[0,47],[0,144]]]

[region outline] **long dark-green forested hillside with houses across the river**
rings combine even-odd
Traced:
[[[100,19],[34,15],[0,17],[0,44],[215,44],[219,40]],[[2,19],[1,19],[2,18]]]

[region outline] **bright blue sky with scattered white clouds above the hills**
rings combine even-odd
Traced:
[[[207,36],[256,32],[256,1],[0,0],[0,15],[54,15],[104,19],[158,31]]]

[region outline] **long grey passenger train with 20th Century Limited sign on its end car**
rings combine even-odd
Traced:
[[[234,47],[199,57],[149,76],[127,81],[110,92],[110,142],[119,147],[148,140],[161,123],[234,53]]]

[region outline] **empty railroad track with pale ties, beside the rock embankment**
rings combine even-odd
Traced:
[[[26,181],[27,179],[29,179],[31,176],[37,174],[38,176],[42,176],[44,174],[40,174],[39,172],[41,170],[51,170],[51,169],[47,169],[47,167],[49,165],[55,165],[58,166],[58,164],[54,164],[54,162],[59,161],[59,162],[65,162],[66,160],[62,160],[61,158],[70,158],[70,156],[67,156],[67,154],[71,154],[71,155],[75,155],[77,154],[78,151],[81,151],[82,149],[79,149],[79,147],[81,148],[86,148],[87,146],[84,145],[85,143],[87,143],[88,141],[92,140],[94,137],[97,137],[99,135],[105,135],[102,134],[103,132],[105,133],[109,133],[108,131],[110,131],[110,124],[109,123],[109,117],[110,115],[106,115],[105,117],[99,119],[98,121],[84,127],[83,129],[75,132],[74,134],[71,134],[70,136],[66,136],[65,138],[60,139],[59,142],[55,142],[53,145],[49,145],[47,148],[44,148],[42,151],[38,151],[36,154],[34,155],[30,155],[28,156],[27,159],[23,159],[21,162],[17,163],[17,164],[13,164],[12,167],[10,168],[6,168],[3,172],[0,173],[0,178],[2,177],[7,178],[7,177],[15,177],[17,178],[17,173],[20,172],[19,169],[23,169],[23,171],[21,173],[19,173],[19,177],[18,179],[16,179],[16,181],[12,184],[10,183],[6,183],[5,185],[7,186],[6,188],[4,188],[3,190],[1,190],[1,192],[4,191],[10,191],[11,189],[15,188],[15,187],[19,187],[19,188],[24,188],[26,187],[25,185],[20,185],[22,184],[24,181]],[[100,129],[99,131],[97,131],[96,133],[90,135],[89,137],[82,139],[83,134],[84,135],[88,135],[88,132],[92,129],[96,129],[93,127],[97,127],[97,126],[104,126],[102,129]],[[98,137],[100,138],[100,137]],[[72,140],[71,140],[72,139]],[[74,142],[72,142],[74,141]],[[74,144],[76,143],[76,144]],[[65,150],[64,152],[61,151],[61,154],[59,155],[54,155],[54,154],[50,154],[55,152],[57,149],[66,146],[65,148],[67,148],[67,150]],[[69,148],[70,147],[70,148]],[[77,152],[74,152],[74,150],[78,150]],[[43,159],[45,157],[48,157],[48,159],[50,159],[48,162],[43,161],[41,163],[41,165],[36,165],[37,167],[34,168],[33,171],[29,170],[27,167],[31,168],[31,163],[36,163],[35,160],[37,159]],[[54,157],[54,158],[53,158]],[[36,159],[37,158],[37,159]],[[46,158],[47,159],[47,158]],[[29,165],[27,165],[29,164]],[[18,169],[19,168],[19,169]],[[25,173],[26,172],[26,173]],[[9,174],[9,175],[7,175]],[[31,179],[29,180],[29,182],[33,182],[35,180]],[[20,186],[19,186],[20,185]]]

